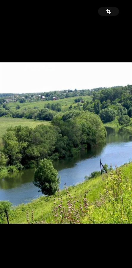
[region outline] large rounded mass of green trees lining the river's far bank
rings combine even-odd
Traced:
[[[45,108],[47,109],[47,108]],[[10,127],[3,136],[1,166],[17,169],[32,167],[41,159],[73,156],[81,148],[105,141],[106,130],[98,115],[88,111],[71,110],[54,116],[50,126]]]

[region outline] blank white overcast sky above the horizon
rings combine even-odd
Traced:
[[[132,63],[0,63],[0,93],[33,93],[132,84]]]

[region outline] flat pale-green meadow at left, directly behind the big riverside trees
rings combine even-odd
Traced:
[[[28,127],[36,127],[39,124],[48,125],[50,124],[49,121],[39,121],[33,119],[26,119],[26,118],[7,118],[7,117],[0,117],[0,147],[2,146],[2,136],[6,133],[7,128],[15,127],[18,125],[21,126],[28,126]]]

